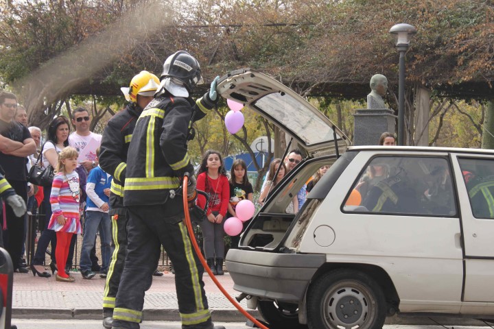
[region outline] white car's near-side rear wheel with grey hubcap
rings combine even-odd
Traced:
[[[310,329],[382,328],[386,300],[379,284],[351,269],[331,271],[318,278],[307,293]]]

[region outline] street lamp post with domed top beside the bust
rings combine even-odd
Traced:
[[[397,35],[397,50],[399,59],[398,83],[398,145],[405,145],[405,53],[410,45],[410,38],[416,34],[416,29],[410,24],[400,23],[393,25],[390,34]]]

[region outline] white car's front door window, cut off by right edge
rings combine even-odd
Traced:
[[[494,218],[494,160],[459,158],[475,218]]]

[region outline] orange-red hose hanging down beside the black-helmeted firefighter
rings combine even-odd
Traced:
[[[223,293],[223,295],[233,304],[233,306],[235,306],[237,308],[237,310],[240,311],[240,313],[245,315],[245,317],[247,319],[249,319],[250,321],[254,322],[255,325],[258,326],[259,328],[269,329],[268,327],[261,324],[261,322],[257,321],[257,319],[252,317],[252,315],[247,313],[247,311],[244,310],[244,308],[242,308],[242,306],[240,306],[240,304],[238,304],[237,301],[234,300],[231,297],[231,295],[229,295],[226,292],[226,290],[223,288],[223,286],[220,284],[220,282],[214,276],[213,272],[211,272],[211,269],[209,269],[209,266],[207,265],[206,260],[204,259],[204,256],[202,256],[202,253],[200,252],[200,247],[197,244],[196,236],[193,234],[193,228],[192,228],[190,215],[189,215],[189,202],[187,200],[187,184],[188,183],[189,183],[189,178],[186,175],[186,176],[184,176],[184,179],[183,179],[183,204],[184,204],[184,211],[185,211],[185,225],[187,225],[187,230],[189,231],[189,236],[190,236],[190,239],[192,241],[192,245],[193,245],[194,249],[196,249],[196,253],[197,253],[197,255],[198,255],[198,257],[202,263],[202,266],[209,273],[209,276],[211,277],[211,279],[213,279],[213,282],[215,282],[216,287],[218,287],[218,289],[220,289],[220,291]]]

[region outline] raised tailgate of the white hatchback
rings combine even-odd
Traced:
[[[217,84],[226,99],[243,103],[295,138],[308,154],[333,154],[351,145],[349,139],[324,114],[277,80],[252,69],[228,73]]]

